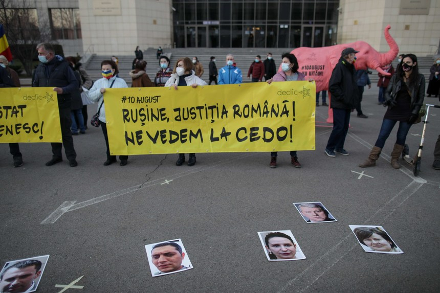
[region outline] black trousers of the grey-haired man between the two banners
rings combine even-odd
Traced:
[[[53,159],[62,159],[62,146],[64,145],[65,156],[68,160],[76,159],[76,152],[73,147],[72,118],[69,108],[59,108],[59,122],[61,125],[62,143],[51,143]]]

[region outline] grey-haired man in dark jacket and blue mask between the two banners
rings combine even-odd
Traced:
[[[52,160],[46,166],[52,166],[62,161],[62,145],[64,145],[65,155],[71,167],[78,166],[76,162],[76,152],[73,147],[73,138],[70,127],[72,125],[70,107],[72,104],[71,93],[78,87],[78,80],[69,63],[61,56],[55,55],[55,51],[50,43],[40,43],[37,45],[38,59],[40,64],[35,70],[35,79],[32,86],[54,86],[54,91],[58,97],[59,119],[61,125],[62,143],[51,143]]]

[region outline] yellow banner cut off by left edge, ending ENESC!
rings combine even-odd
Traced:
[[[62,142],[53,87],[0,88],[0,143]]]

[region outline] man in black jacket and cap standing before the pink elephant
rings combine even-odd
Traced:
[[[333,130],[328,138],[325,153],[331,157],[336,157],[335,153],[349,155],[344,149],[345,137],[350,123],[350,112],[356,107],[359,99],[356,69],[353,65],[356,53],[359,51],[353,48],[342,51],[328,83],[331,94],[330,107],[333,109]]]

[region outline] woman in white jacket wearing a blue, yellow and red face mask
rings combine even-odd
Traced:
[[[99,121],[104,134],[105,146],[107,147],[107,161],[104,162],[104,166],[116,163],[116,155],[110,155],[110,147],[108,145],[107,124],[105,120],[105,105],[104,105],[104,93],[106,88],[123,88],[128,87],[125,80],[116,77],[118,75],[118,65],[113,60],[104,60],[101,62],[101,74],[102,78],[98,79],[89,91],[89,98],[98,102],[98,115]],[[120,155],[119,165],[127,165],[128,155]]]

